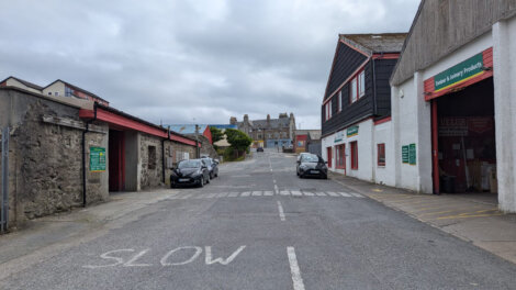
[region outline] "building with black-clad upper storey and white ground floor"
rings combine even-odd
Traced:
[[[389,178],[389,78],[405,36],[339,35],[322,105],[322,155],[329,170],[373,182]]]

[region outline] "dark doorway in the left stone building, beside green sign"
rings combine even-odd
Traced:
[[[125,190],[125,136],[123,131],[110,130],[109,180],[110,191]]]

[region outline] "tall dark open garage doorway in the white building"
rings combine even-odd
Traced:
[[[433,101],[436,192],[493,193],[496,197],[496,143],[493,78]],[[436,140],[437,138],[437,140]],[[437,142],[436,142],[437,141]],[[438,168],[436,169],[436,165]],[[434,175],[434,179],[437,174]]]

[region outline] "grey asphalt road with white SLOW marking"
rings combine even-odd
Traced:
[[[515,289],[516,266],[272,152],[224,165],[2,289]],[[131,216],[127,216],[131,219]]]

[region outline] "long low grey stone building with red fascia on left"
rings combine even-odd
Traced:
[[[4,127],[10,226],[106,201],[112,191],[162,186],[173,165],[195,157],[195,141],[184,135],[111,107],[19,87],[0,87]]]

